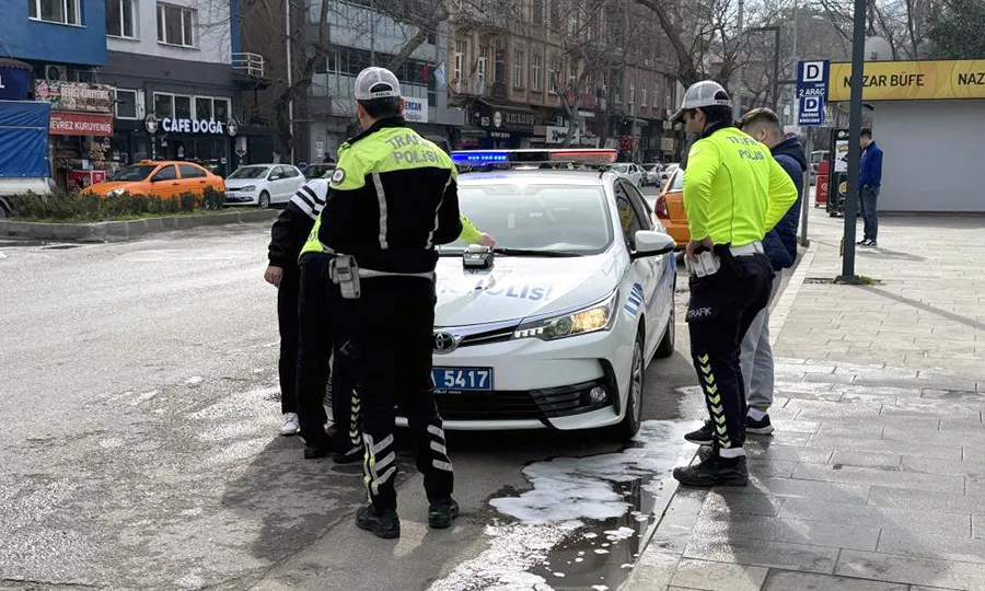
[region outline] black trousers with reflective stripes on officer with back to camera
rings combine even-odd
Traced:
[[[434,282],[421,277],[371,277],[360,282],[351,334],[359,367],[356,390],[362,405],[367,494],[376,510],[396,509],[396,405],[409,422],[428,499],[445,499],[452,494],[453,475],[431,383]]]

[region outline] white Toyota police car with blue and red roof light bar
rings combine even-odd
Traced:
[[[432,376],[445,428],[639,429],[645,369],[674,350],[674,240],[616,173],[536,166],[615,157],[452,153],[495,163],[459,175],[459,200],[496,250],[491,262],[461,242],[440,250]]]

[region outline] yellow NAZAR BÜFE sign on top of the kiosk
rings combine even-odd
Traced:
[[[831,65],[830,101],[848,101],[851,63]],[[985,60],[870,61],[862,70],[864,101],[985,99]]]

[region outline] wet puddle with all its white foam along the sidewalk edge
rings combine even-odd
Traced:
[[[531,490],[490,501],[508,522],[487,526],[489,547],[430,590],[618,589],[669,501],[665,479],[694,453],[690,427],[646,421],[619,452],[528,465]]]

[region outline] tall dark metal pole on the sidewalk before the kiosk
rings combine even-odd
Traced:
[[[848,113],[848,194],[845,196],[845,257],[842,280],[855,277],[855,227],[858,223],[858,170],[861,159],[862,69],[866,67],[866,0],[855,0],[851,39],[851,108]]]

